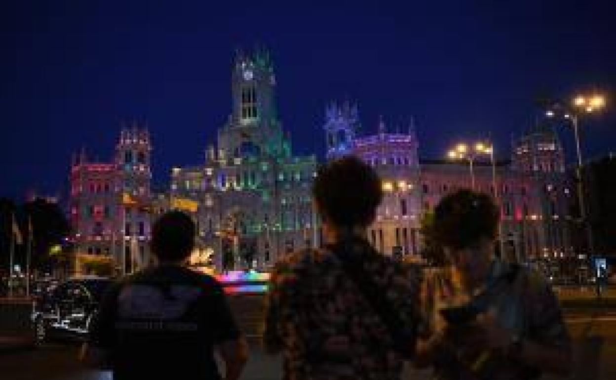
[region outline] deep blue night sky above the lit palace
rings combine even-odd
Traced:
[[[488,131],[504,155],[534,99],[593,88],[611,109],[584,121],[586,155],[614,150],[610,0],[159,3],[2,2],[0,196],[64,191],[71,153],[110,158],[124,118],[150,126],[156,183],[200,163],[230,112],[233,51],[256,44],[296,152],[321,155],[325,103],[354,99],[364,131],[415,116],[423,157]]]

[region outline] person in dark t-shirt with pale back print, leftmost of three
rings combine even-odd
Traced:
[[[222,379],[240,376],[246,343],[233,320],[222,286],[184,267],[195,225],[179,211],[152,227],[159,264],[124,278],[103,297],[90,328],[84,357],[105,357],[115,380]]]

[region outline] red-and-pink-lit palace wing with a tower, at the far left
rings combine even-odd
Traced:
[[[121,131],[111,162],[92,162],[81,152],[70,169],[70,222],[75,270],[109,259],[131,273],[150,262],[150,137],[134,124]]]

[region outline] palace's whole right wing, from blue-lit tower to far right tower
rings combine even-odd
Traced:
[[[368,240],[383,254],[416,258],[422,247],[421,217],[447,193],[472,188],[469,164],[419,160],[412,126],[408,133],[392,133],[381,119],[376,134],[358,137],[356,106],[331,105],[325,118],[328,158],[355,155],[383,180],[384,199],[368,227]],[[489,160],[477,160],[473,172],[475,189],[496,195],[507,259],[534,261],[572,254],[566,222],[572,194],[562,145],[553,130],[537,126],[514,142],[511,160],[495,163],[496,180]]]

